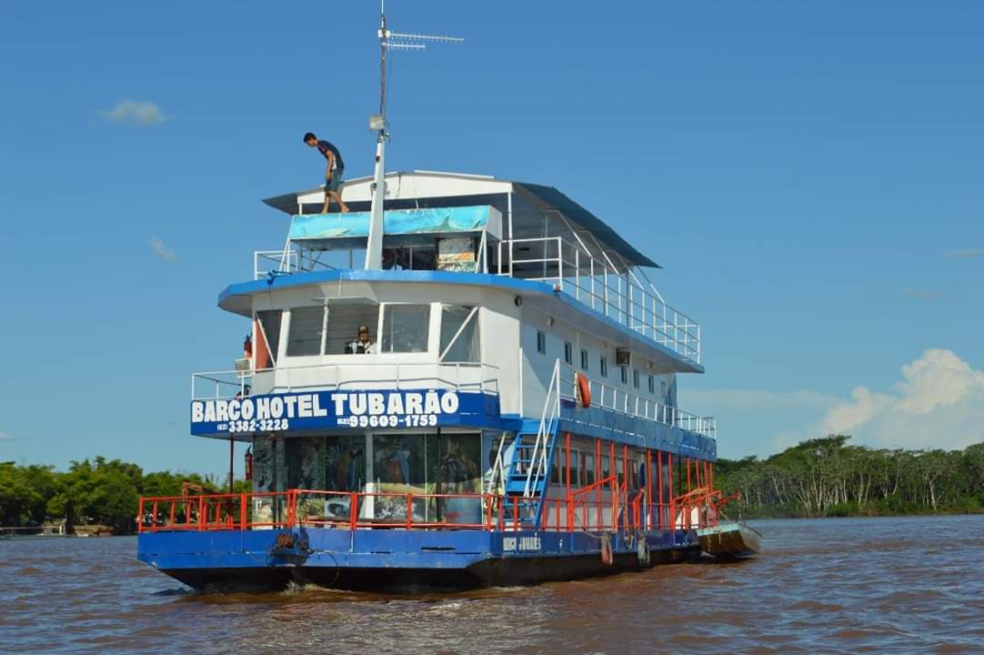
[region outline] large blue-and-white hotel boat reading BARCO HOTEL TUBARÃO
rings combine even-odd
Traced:
[[[701,326],[658,264],[552,186],[386,171],[370,125],[351,211],[320,213],[321,187],[264,201],[285,244],[217,298],[242,357],[192,375],[230,488],[141,498],[138,558],[196,589],[415,591],[700,557],[716,424],[678,403]]]

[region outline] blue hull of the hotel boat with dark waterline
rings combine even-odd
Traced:
[[[639,540],[649,557],[640,557]],[[564,532],[222,530],[140,536],[138,557],[201,590],[277,590],[291,582],[357,591],[413,592],[532,585],[638,570],[700,556],[696,532],[611,537]],[[645,550],[645,549],[642,549]]]

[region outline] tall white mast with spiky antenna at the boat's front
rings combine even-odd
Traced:
[[[386,0],[380,0],[379,28],[379,113],[369,116],[369,129],[379,132],[376,141],[376,167],[373,172],[372,209],[369,219],[369,238],[366,242],[366,269],[383,268],[383,205],[386,196],[386,142],[390,138],[386,119],[386,54],[387,50],[424,50],[428,43],[461,43],[457,36],[437,36],[392,32],[386,27]]]

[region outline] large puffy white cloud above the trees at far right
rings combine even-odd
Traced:
[[[953,351],[933,349],[901,368],[889,393],[857,387],[831,407],[818,434],[849,433],[859,443],[963,448],[984,441],[984,370]]]

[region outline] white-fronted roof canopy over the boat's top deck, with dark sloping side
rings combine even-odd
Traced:
[[[389,172],[386,174],[386,179],[392,180],[391,183],[396,185],[394,193],[390,194],[388,189],[388,200],[521,193],[544,211],[560,212],[570,223],[574,224],[575,231],[590,233],[627,263],[647,268],[662,268],[584,206],[552,186],[499,179],[489,175],[435,170]],[[369,202],[372,194],[372,182],[371,175],[346,180],[344,184],[345,202]],[[389,186],[390,184],[388,184]],[[281,212],[293,215],[297,213],[298,206],[306,203],[320,204],[323,198],[324,189],[319,186],[305,191],[295,191],[265,198],[263,202]]]

